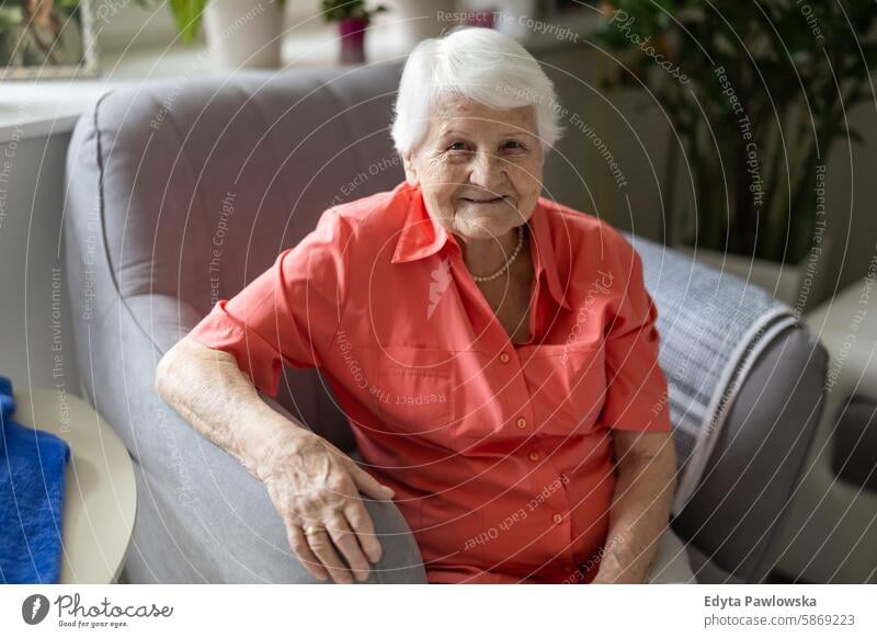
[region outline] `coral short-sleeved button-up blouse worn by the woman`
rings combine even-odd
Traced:
[[[326,210],[190,332],[271,396],[282,364],[320,368],[430,582],[591,582],[616,480],[610,431],[670,431],[639,254],[544,197],[527,225],[524,344],[407,182]]]

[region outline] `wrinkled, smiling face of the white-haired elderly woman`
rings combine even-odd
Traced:
[[[529,219],[544,153],[533,106],[497,111],[464,98],[436,105],[425,139],[403,158],[430,216],[464,239],[501,237]]]

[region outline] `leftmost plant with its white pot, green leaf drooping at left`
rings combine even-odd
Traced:
[[[159,0],[137,0],[152,9]],[[285,0],[170,0],[180,39],[192,44],[204,21],[207,46],[221,69],[276,68]]]

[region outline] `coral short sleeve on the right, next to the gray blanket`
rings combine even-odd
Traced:
[[[606,317],[606,401],[603,422],[612,430],[670,432],[667,378],[658,363],[658,307],[646,290],[642,259],[616,232],[618,299]]]

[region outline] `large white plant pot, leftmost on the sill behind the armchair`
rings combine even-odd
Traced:
[[[269,0],[212,0],[204,31],[214,66],[220,70],[281,65],[283,8]]]

